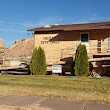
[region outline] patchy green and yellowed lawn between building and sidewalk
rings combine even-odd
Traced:
[[[110,103],[110,78],[1,75],[0,94]]]

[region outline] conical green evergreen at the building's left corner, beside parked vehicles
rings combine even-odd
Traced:
[[[46,74],[46,58],[44,50],[39,47],[35,48],[32,61],[30,63],[30,71],[33,75],[44,75]]]

